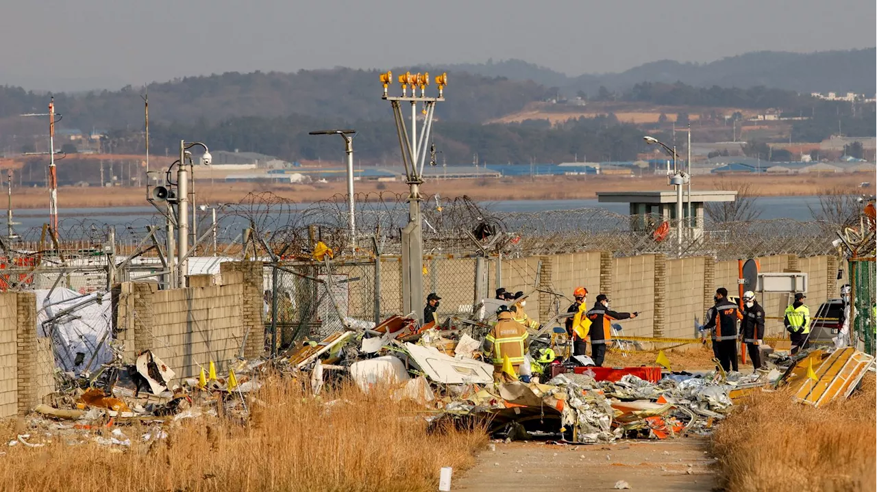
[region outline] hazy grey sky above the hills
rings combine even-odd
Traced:
[[[518,58],[567,74],[877,45],[877,2],[2,0],[0,84],[51,90],[227,71]]]

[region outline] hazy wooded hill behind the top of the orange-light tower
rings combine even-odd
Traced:
[[[396,71],[394,71],[396,73]],[[450,71],[447,101],[439,104],[442,120],[483,122],[523,109],[547,96],[532,81],[512,81],[481,74]],[[394,93],[401,93],[398,84]],[[434,93],[435,89],[431,88]],[[81,130],[142,127],[143,100],[148,92],[149,117],[157,123],[216,123],[232,117],[282,117],[292,114],[356,122],[392,120],[389,102],[381,100],[375,70],[334,68],[279,72],[231,72],[154,82],[146,88],[86,94],[56,94],[64,124]],[[0,117],[45,112],[48,96],[23,88],[0,87]]]

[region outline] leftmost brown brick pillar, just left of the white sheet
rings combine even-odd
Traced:
[[[33,292],[16,293],[18,351],[18,414],[39,404],[37,371],[37,299]]]

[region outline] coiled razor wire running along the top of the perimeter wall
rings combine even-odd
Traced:
[[[314,241],[322,241],[346,255],[374,254],[374,238],[382,254],[400,254],[401,229],[408,221],[408,196],[400,193],[357,193],[355,221],[359,250],[353,250],[348,227],[346,195],[314,203],[297,203],[274,193],[250,193],[238,203],[217,209],[217,242],[241,242],[249,229],[260,254],[266,248],[287,258],[310,257]],[[608,250],[616,256],[666,253],[670,256],[704,256],[736,259],[776,254],[802,257],[831,253],[831,241],[842,226],[829,221],[703,221],[682,228],[678,221],[659,216],[617,214],[602,208],[496,212],[467,196],[444,199],[425,197],[421,203],[424,254],[488,254],[527,257],[583,250]],[[858,219],[857,219],[858,221]],[[851,222],[852,223],[852,222]],[[210,235],[213,224],[201,213],[197,236]],[[688,225],[688,224],[685,224]],[[91,219],[64,219],[59,223],[62,250],[102,248],[111,230],[116,242],[132,248],[153,228],[155,241],[166,244],[167,221],[161,214],[141,216],[114,225]],[[877,239],[873,242],[877,244]],[[32,254],[53,250],[44,228],[26,229],[18,250]],[[203,244],[202,244],[203,248]]]

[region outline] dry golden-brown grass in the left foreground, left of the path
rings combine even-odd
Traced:
[[[132,439],[122,453],[57,438],[45,447],[9,447],[0,488],[425,491],[437,488],[441,467],[455,474],[471,467],[487,442],[483,429],[428,432],[415,407],[354,387],[314,399],[289,380],[274,380],[259,400],[246,425],[189,418],[154,444],[140,441],[142,429],[122,427]]]

